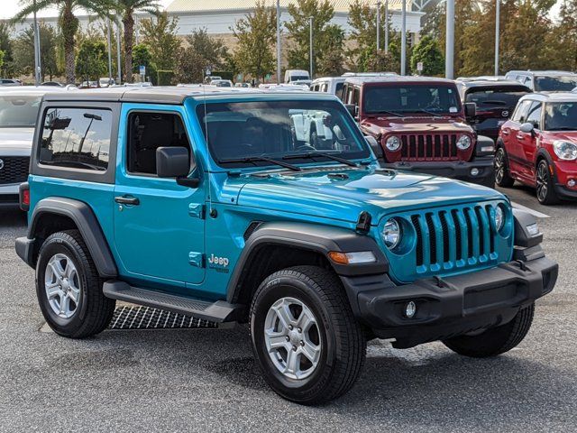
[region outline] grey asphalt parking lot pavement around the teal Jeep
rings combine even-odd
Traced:
[[[545,250],[561,266],[525,341],[493,359],[373,341],[352,392],[317,408],[269,390],[245,327],[82,341],[39,331],[34,272],[14,253],[24,220],[0,211],[0,431],[575,431],[577,204],[504,192],[549,216]]]

